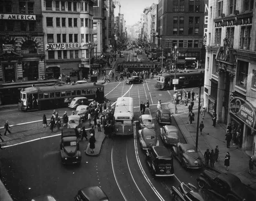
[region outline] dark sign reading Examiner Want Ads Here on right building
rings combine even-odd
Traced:
[[[241,121],[243,121],[252,129],[256,129],[255,108],[246,100],[231,95],[229,103],[229,112],[238,117]]]

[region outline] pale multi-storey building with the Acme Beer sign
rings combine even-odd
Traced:
[[[89,75],[93,45],[92,6],[96,0],[41,0],[46,78],[81,80]],[[90,55],[89,55],[90,53]]]

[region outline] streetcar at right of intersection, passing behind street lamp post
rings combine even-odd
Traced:
[[[173,89],[175,73],[162,73],[156,76],[155,89]],[[199,86],[200,80],[204,83],[204,70],[176,72],[178,84],[176,88],[187,88]]]

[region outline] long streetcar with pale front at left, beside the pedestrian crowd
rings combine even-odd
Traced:
[[[67,107],[77,96],[101,102],[104,100],[104,85],[93,82],[28,87],[20,91],[19,109],[27,111]]]

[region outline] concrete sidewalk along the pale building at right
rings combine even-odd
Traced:
[[[190,102],[189,102],[190,103]],[[173,114],[177,125],[179,126],[184,138],[188,144],[196,144],[196,133],[197,133],[197,105],[195,102],[193,107],[193,112],[195,114],[195,121],[193,124],[189,124],[188,121],[188,109],[185,108],[185,105],[178,104],[177,114]],[[175,105],[169,104],[169,109],[172,112],[175,111]],[[201,108],[202,109],[202,108]],[[199,114],[200,115],[200,114]],[[212,126],[212,117],[206,113],[204,120],[200,115],[199,122],[203,121],[204,129],[202,135],[199,133],[198,137],[198,152],[201,154],[201,157],[204,158],[204,152],[206,149],[215,149],[216,145],[219,145],[219,159],[218,162],[215,162],[214,168],[220,172],[227,172],[226,167],[224,166],[224,159],[226,153],[230,154],[230,166],[229,173],[235,174],[238,176],[241,181],[250,186],[253,189],[256,189],[256,169],[251,172],[251,175],[248,173],[249,170],[249,159],[248,156],[241,148],[237,145],[233,145],[230,142],[230,148],[227,148],[225,135],[226,135],[226,125],[225,124],[216,124],[216,127]]]

